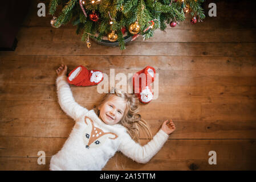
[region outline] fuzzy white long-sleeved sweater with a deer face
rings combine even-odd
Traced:
[[[70,137],[52,156],[50,170],[101,170],[121,151],[138,163],[147,163],[163,146],[168,134],[159,132],[145,146],[140,146],[120,124],[106,125],[94,110],[75,102],[66,76],[56,80],[60,107],[75,120]]]

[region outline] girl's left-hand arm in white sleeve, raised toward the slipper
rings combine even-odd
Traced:
[[[70,86],[67,82],[67,65],[60,66],[56,69],[58,75],[56,79],[57,93],[59,105],[62,107],[63,111],[73,119],[78,119],[83,113],[86,113],[88,110],[80,106],[75,102],[72,95]]]

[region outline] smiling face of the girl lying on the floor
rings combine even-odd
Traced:
[[[114,95],[99,106],[100,119],[107,125],[114,125],[121,120],[125,109],[126,103],[124,99]]]

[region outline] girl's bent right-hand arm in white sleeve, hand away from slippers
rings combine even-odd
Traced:
[[[136,143],[128,133],[125,133],[119,146],[119,151],[128,156],[128,158],[135,160],[137,163],[147,163],[159,152],[168,139],[169,134],[175,129],[176,127],[172,121],[165,121],[159,132],[144,146]]]

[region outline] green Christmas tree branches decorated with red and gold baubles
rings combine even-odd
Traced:
[[[202,2],[204,0],[178,0],[175,2],[174,0],[101,0],[100,2],[95,0],[95,3],[92,3],[91,0],[88,0],[83,1],[84,11],[88,14],[85,16],[79,0],[51,0],[49,13],[54,15],[57,7],[63,6],[60,15],[55,20],[54,27],[72,21],[72,24],[77,26],[77,34],[83,30],[81,38],[83,42],[87,41],[88,36],[94,38],[95,35],[98,35],[96,39],[101,40],[109,32],[115,31],[118,35],[117,41],[120,49],[123,50],[125,49],[121,31],[123,27],[128,30],[131,24],[139,22],[139,33],[147,40],[154,35],[157,28],[164,31],[166,23],[184,21],[185,10],[189,9],[190,14],[193,17],[198,16],[199,20],[204,19]],[[92,17],[96,17],[96,20]],[[132,36],[132,34],[128,32],[128,36]]]

